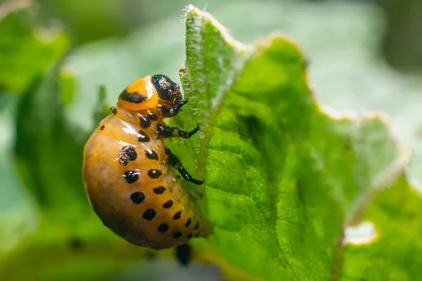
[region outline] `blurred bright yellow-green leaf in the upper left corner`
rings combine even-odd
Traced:
[[[0,91],[22,93],[68,47],[66,34],[34,22],[33,8],[30,1],[0,5]]]

